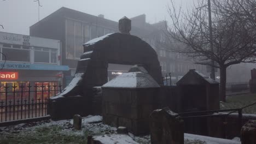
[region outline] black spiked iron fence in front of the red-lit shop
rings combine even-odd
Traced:
[[[0,87],[0,121],[41,117],[47,115],[50,97],[61,92],[61,85],[42,83],[33,85],[4,85]]]

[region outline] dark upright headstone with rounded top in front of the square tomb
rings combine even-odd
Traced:
[[[149,125],[152,144],[184,144],[184,122],[168,107],[154,110]]]

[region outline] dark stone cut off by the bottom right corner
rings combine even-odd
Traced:
[[[256,120],[249,120],[241,129],[241,144],[256,143]]]

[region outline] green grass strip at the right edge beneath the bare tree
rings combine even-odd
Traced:
[[[256,102],[256,94],[232,95],[226,103],[220,102],[220,109],[237,109]],[[256,114],[256,104],[243,109],[243,113]]]

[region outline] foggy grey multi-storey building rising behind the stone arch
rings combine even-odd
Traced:
[[[165,43],[165,34],[162,28],[165,21],[150,24],[146,22],[146,15],[132,17],[131,34],[147,41],[158,53],[162,66],[162,74],[171,72],[173,82],[180,79],[189,69],[205,72],[201,65],[193,65],[184,61],[184,57],[176,53],[162,50],[160,43]],[[70,70],[64,72],[63,83],[68,84],[75,73],[77,62],[83,53],[83,44],[87,41],[101,37],[108,33],[118,32],[118,22],[104,19],[104,15],[90,15],[65,7],[40,20],[30,27],[30,35],[35,37],[59,39],[62,41],[63,65],[68,65]],[[109,65],[109,79],[126,72],[130,65]],[[174,80],[175,79],[175,80]]]

